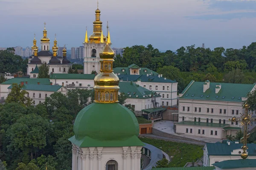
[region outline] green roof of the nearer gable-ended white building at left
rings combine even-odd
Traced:
[[[22,90],[32,90],[32,91],[58,91],[62,86],[61,85],[29,85],[25,84],[22,87]],[[12,88],[10,85],[8,88]],[[64,87],[63,87],[64,88]]]

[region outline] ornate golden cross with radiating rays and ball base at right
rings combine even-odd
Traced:
[[[244,113],[241,114],[241,118],[236,118],[236,116],[233,116],[232,119],[229,119],[231,122],[241,121],[240,124],[244,127],[244,137],[240,139],[240,142],[243,142],[242,149],[244,150],[243,153],[241,153],[241,158],[246,159],[248,157],[248,154],[246,153],[247,147],[247,139],[250,137],[250,133],[248,133],[248,125],[252,125],[251,122],[256,119],[252,119],[252,113],[248,113],[248,108],[250,108],[250,105],[248,103],[245,103],[243,105],[244,107]]]

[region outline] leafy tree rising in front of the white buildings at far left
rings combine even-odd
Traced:
[[[18,85],[17,83],[12,84],[12,91],[8,94],[5,102],[6,103],[20,103],[23,106],[32,105],[32,99],[30,99],[27,94],[28,92],[21,90],[22,85]]]

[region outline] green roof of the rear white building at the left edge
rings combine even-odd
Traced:
[[[40,84],[42,85],[49,85],[50,79],[16,77],[9,79],[1,84],[12,85],[13,83],[20,84],[20,82],[24,82],[24,84],[26,84],[26,82],[28,82],[28,84],[37,84],[38,82],[40,82]]]

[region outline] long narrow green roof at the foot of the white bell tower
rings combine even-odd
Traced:
[[[51,74],[50,79],[94,79],[95,74]]]

